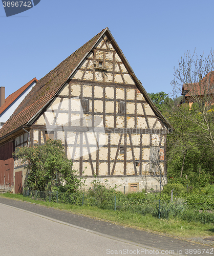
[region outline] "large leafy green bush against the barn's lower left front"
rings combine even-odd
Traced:
[[[71,194],[82,185],[60,140],[49,139],[44,145],[18,147],[14,156],[25,163],[26,189],[52,191],[54,188]]]

